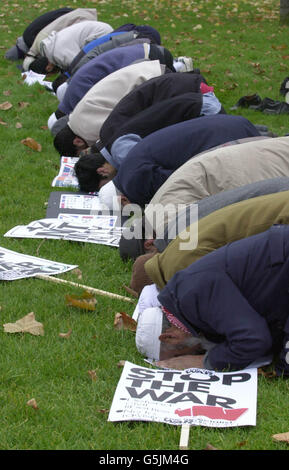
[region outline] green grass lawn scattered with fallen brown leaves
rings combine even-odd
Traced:
[[[45,217],[59,155],[47,130],[57,99],[40,85],[27,86],[16,64],[5,60],[32,19],[62,6],[95,7],[100,21],[113,27],[132,22],[156,27],[163,45],[174,56],[194,58],[227,112],[241,96],[258,93],[282,99],[280,84],[288,73],[288,27],[279,25],[279,1],[35,1],[3,0],[0,7],[0,246],[58,262],[77,264],[62,277],[127,295],[131,262],[123,263],[111,247],[60,240],[4,238],[10,228]],[[25,105],[23,105],[25,103]],[[268,116],[239,108],[254,124],[267,125],[279,136],[289,132],[288,115]],[[18,124],[20,123],[21,126]],[[36,152],[21,143],[31,137],[42,146]],[[116,331],[116,312],[132,314],[134,304],[97,297],[93,312],[68,307],[69,286],[40,279],[2,282],[0,286],[0,449],[47,450],[175,450],[180,428],[157,423],[109,423],[108,410],[117,386],[120,360],[144,366],[134,333]],[[44,336],[4,333],[2,325],[34,312]],[[69,338],[59,333],[72,330]],[[88,371],[95,371],[93,380]],[[207,443],[220,450],[285,450],[272,435],[289,431],[288,381],[258,379],[255,427],[191,431],[190,449]],[[35,398],[38,409],[27,406]]]

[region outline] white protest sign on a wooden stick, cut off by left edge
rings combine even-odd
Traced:
[[[0,247],[0,281],[13,281],[38,274],[61,274],[75,268],[77,265],[57,263]]]

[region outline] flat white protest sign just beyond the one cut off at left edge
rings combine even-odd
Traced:
[[[4,237],[51,238],[118,246],[122,229],[115,227],[115,222],[116,216],[95,216],[84,223],[69,215],[67,220],[41,219],[28,225],[18,225],[6,232]]]

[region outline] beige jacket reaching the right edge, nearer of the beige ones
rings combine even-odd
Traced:
[[[178,205],[184,208],[221,191],[281,176],[289,176],[289,137],[221,147],[191,158],[178,168],[146,206],[145,217],[150,225],[154,217],[167,223]],[[164,211],[164,218],[160,211]],[[153,226],[163,230],[158,222]]]

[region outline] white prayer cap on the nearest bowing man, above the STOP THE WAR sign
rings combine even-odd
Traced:
[[[135,342],[137,350],[148,359],[160,358],[163,312],[160,307],[146,308],[139,313]]]

